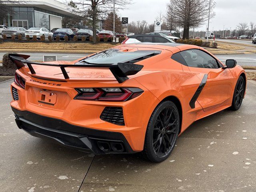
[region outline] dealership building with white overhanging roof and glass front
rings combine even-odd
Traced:
[[[31,27],[62,28],[63,19],[77,18],[75,8],[56,0],[22,1],[10,4],[12,11],[8,13],[4,24],[26,29]]]

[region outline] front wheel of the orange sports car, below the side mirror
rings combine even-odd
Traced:
[[[238,110],[241,105],[244,98],[244,91],[245,91],[245,82],[244,78],[240,76],[236,82],[236,87],[233,94],[232,99],[232,106],[230,107],[230,110]]]

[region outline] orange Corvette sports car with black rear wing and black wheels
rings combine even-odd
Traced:
[[[94,154],[142,152],[161,162],[194,121],[238,110],[246,73],[207,50],[176,43],[116,46],[74,62],[16,64],[11,85],[18,128]]]

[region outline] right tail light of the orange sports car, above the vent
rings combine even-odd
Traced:
[[[74,99],[98,101],[127,101],[143,93],[140,88],[76,88]]]

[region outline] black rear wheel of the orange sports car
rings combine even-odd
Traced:
[[[176,105],[171,101],[158,104],[148,122],[143,156],[151,162],[166,160],[174,149],[179,128],[180,117]]]

